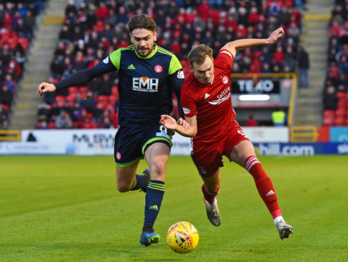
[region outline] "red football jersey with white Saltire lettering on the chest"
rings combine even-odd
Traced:
[[[181,103],[185,116],[197,116],[194,144],[216,142],[235,120],[231,99],[231,71],[234,56],[222,49],[213,61],[213,82],[203,84],[190,73],[181,87]]]

